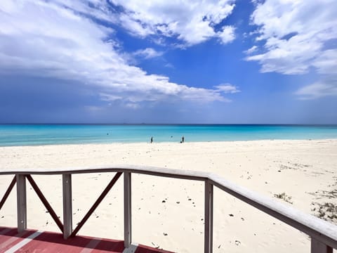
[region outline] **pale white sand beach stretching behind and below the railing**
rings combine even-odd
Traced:
[[[319,214],[319,206],[325,203],[337,205],[337,139],[2,147],[0,164],[0,169],[143,164],[211,171],[309,214]],[[113,176],[73,176],[74,226]],[[11,177],[1,176],[0,195]],[[62,220],[61,176],[33,177]],[[80,235],[123,239],[122,183],[117,181]],[[132,183],[133,242],[173,252],[203,252],[203,183],[138,174]],[[16,226],[15,203],[13,190],[0,210],[0,226]],[[337,218],[330,222],[337,224]],[[58,231],[29,183],[27,224],[28,228]],[[310,252],[307,235],[218,189],[213,229],[213,252]]]

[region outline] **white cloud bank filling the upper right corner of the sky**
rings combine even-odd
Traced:
[[[264,43],[263,50],[246,60],[258,61],[261,72],[305,74],[313,70],[322,74],[322,80],[298,91],[298,94],[316,92],[323,87],[334,93],[335,84],[330,80],[337,76],[336,44],[333,48],[327,45],[337,39],[336,11],[336,1],[333,0],[256,1],[251,23],[258,29],[251,35]],[[246,53],[252,52],[249,49]],[[327,92],[319,94],[312,98],[324,96]]]

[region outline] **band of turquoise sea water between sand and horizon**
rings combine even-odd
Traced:
[[[337,138],[337,125],[3,124],[0,146]]]

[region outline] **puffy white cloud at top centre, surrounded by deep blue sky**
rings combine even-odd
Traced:
[[[232,13],[234,0],[110,1],[125,10],[120,25],[138,37],[177,37],[187,46],[212,37],[220,37],[224,44],[234,39],[233,27],[225,26],[220,33],[213,28]]]

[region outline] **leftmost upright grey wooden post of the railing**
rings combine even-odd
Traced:
[[[26,176],[16,175],[16,196],[18,208],[18,233],[27,228]]]

